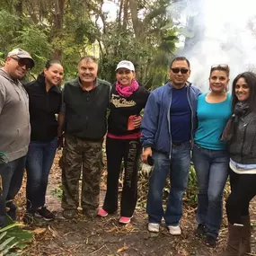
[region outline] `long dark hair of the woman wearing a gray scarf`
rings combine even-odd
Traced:
[[[248,103],[250,110],[256,113],[256,75],[252,72],[243,72],[234,78],[232,84],[232,110],[234,112],[235,104],[238,102],[235,95],[235,84],[240,78],[244,78],[245,82],[248,84],[250,92],[246,102]]]

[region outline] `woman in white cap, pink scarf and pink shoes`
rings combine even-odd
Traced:
[[[128,224],[137,204],[137,172],[141,154],[140,111],[145,108],[149,92],[138,85],[132,62],[120,61],[116,71],[117,82],[111,92],[106,141],[107,193],[98,215],[107,216],[118,209],[119,173],[124,160],[119,223]]]

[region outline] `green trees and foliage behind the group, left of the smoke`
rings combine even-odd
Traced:
[[[138,81],[154,89],[167,79],[179,31],[172,28],[166,11],[169,0],[135,2],[137,8],[124,0],[113,21],[102,1],[66,1],[60,10],[61,0],[0,0],[0,52],[3,58],[16,47],[31,52],[36,66],[29,79],[49,58],[61,59],[65,79],[74,78],[78,59],[89,54],[100,57],[100,77],[113,82],[118,62],[129,59]]]

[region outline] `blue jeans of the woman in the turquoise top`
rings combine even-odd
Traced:
[[[229,154],[225,150],[210,150],[195,145],[193,162],[199,184],[197,221],[206,225],[207,234],[217,238],[222,224]]]

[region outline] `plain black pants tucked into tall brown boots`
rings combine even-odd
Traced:
[[[249,204],[256,195],[256,174],[237,174],[230,170],[231,194],[226,201],[226,214],[231,224],[242,224],[241,216],[249,215]]]

